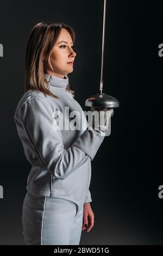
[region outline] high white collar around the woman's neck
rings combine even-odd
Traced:
[[[61,92],[65,93],[66,92],[66,87],[68,84],[68,77],[65,75],[64,78],[60,78],[57,76],[51,76],[49,74],[44,74],[46,77],[46,80],[49,84],[49,89],[51,90],[52,93],[56,92]]]

